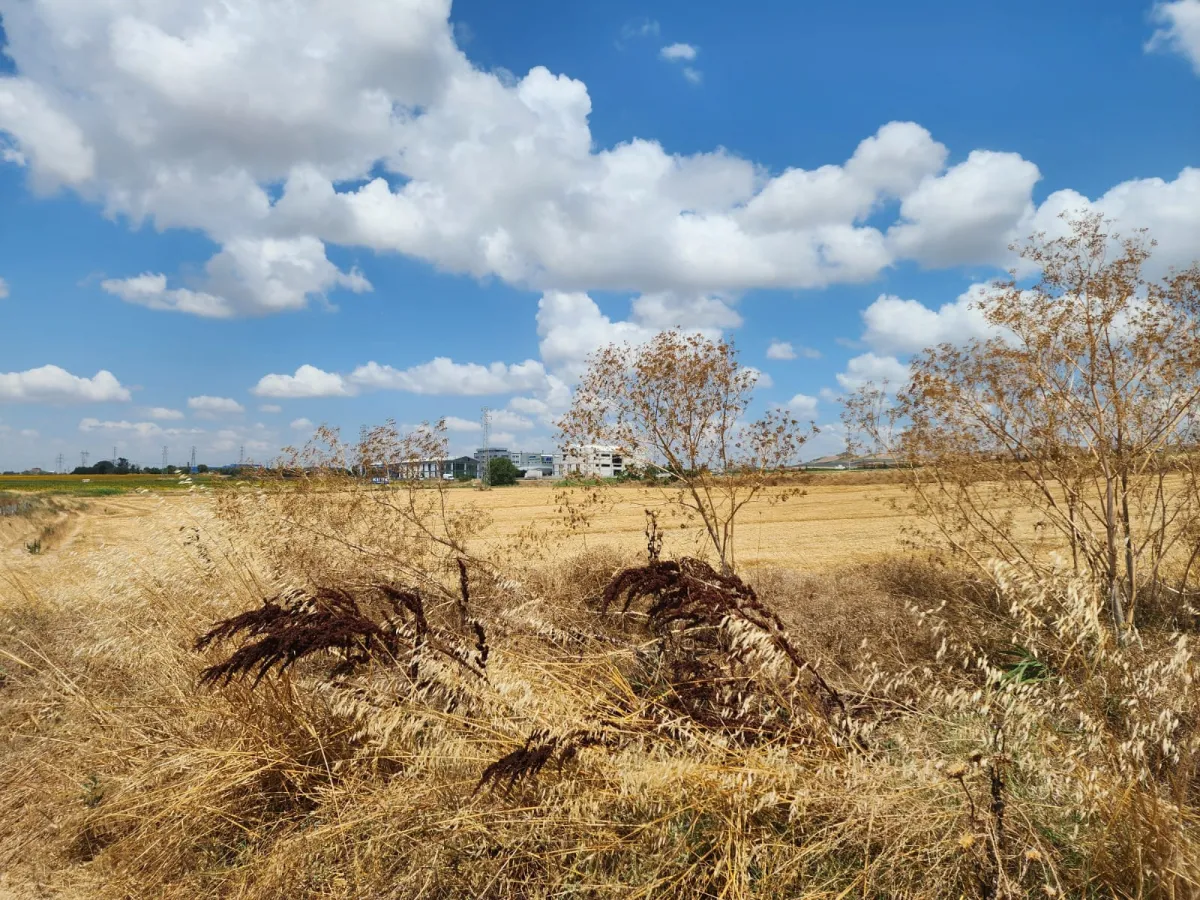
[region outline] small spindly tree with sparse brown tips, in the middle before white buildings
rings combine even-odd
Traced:
[[[607,444],[642,458],[667,499],[698,517],[730,572],[738,515],[814,431],[785,409],[746,421],[757,380],[732,343],[701,335],[672,330],[643,346],[605,347],[559,422],[564,452]]]

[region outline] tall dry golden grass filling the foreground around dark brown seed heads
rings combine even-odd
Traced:
[[[888,490],[763,509],[748,577],[868,749],[679,714],[660,638],[596,611],[644,562],[637,493],[587,547],[473,580],[486,678],[450,665],[420,688],[382,658],[203,688],[227,652],[192,646],[215,622],[317,577],[356,590],[356,570],[305,545],[288,571],[270,547],[290,533],[204,498],[97,505],[48,556],[0,551],[0,894],[1196,896],[1189,638],[1116,648],[1086,586],[898,554]],[[460,494],[502,545],[553,512],[540,487]],[[457,626],[456,577],[445,600],[422,588],[431,628]],[[706,653],[762,631],[738,628]],[[754,685],[781,708],[794,689]],[[536,773],[481,785],[527,757]]]

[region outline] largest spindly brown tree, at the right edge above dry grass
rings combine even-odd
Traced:
[[[1139,590],[1175,563],[1182,588],[1200,550],[1200,266],[1148,281],[1144,233],[1064,218],[1020,247],[1037,283],[1014,274],[978,301],[992,337],[924,350],[894,403],[868,386],[846,418],[912,467],[955,550],[1036,568],[1069,547],[1120,634]]]

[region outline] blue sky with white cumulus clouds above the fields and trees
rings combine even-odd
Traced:
[[[307,10],[305,7],[308,7]],[[304,13],[304,14],[301,14]],[[551,445],[588,352],[732,336],[761,404],[978,336],[1094,209],[1200,250],[1200,0],[0,0],[0,469]],[[774,347],[774,348],[773,348]],[[772,349],[773,348],[773,349]]]

